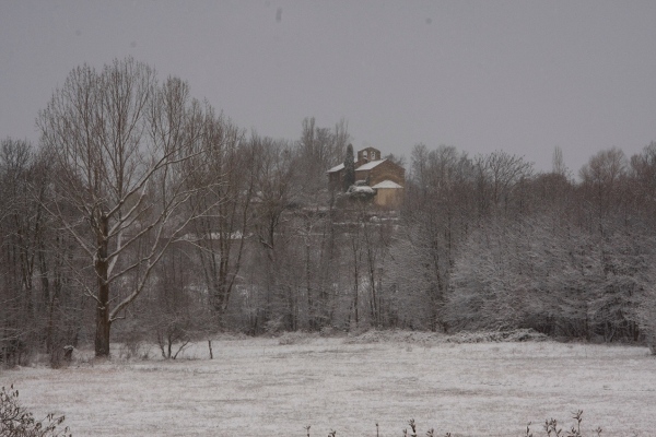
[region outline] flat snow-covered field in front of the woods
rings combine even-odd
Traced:
[[[403,339],[406,336],[406,339]],[[409,339],[407,339],[409,336]],[[368,341],[367,341],[368,339]],[[176,361],[3,370],[37,415],[73,436],[522,436],[546,418],[585,435],[656,435],[656,359],[647,349],[555,342],[454,344],[437,338],[224,339]],[[118,355],[118,353],[116,354]]]

